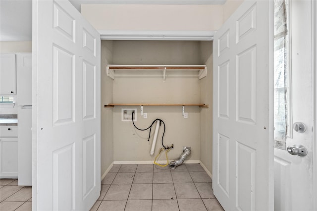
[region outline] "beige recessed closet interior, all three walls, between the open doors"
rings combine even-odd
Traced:
[[[113,164],[153,164],[155,160],[150,155],[149,132],[122,122],[124,108],[137,109],[141,128],[162,119],[166,124],[164,143],[174,146],[168,152],[169,160],[177,159],[183,147],[191,147],[184,163],[200,163],[211,176],[212,41],[103,40],[101,62],[102,179]],[[112,79],[108,65],[204,66],[207,71],[201,79],[197,70],[166,71],[162,80],[162,70],[124,69]],[[162,132],[159,130],[159,137]],[[154,130],[150,140],[153,135]],[[154,155],[160,147],[158,141]],[[160,157],[159,162],[166,163],[165,157]]]

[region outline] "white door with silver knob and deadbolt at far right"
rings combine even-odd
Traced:
[[[314,200],[316,201],[313,197],[312,185],[314,184],[313,153],[316,153],[313,152],[313,1],[289,3],[291,89],[288,92],[292,99],[289,101],[292,118],[288,127],[286,146],[302,145],[307,149],[308,154],[300,157],[291,155],[285,150],[274,149],[274,210],[312,211]],[[306,125],[305,132],[300,133],[293,129],[292,126],[296,122]]]

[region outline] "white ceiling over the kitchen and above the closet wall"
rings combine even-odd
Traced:
[[[225,0],[69,0],[81,4],[223,4]],[[32,40],[32,0],[0,0],[0,41]]]

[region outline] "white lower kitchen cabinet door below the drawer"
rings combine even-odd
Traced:
[[[18,138],[0,138],[0,178],[18,177]]]

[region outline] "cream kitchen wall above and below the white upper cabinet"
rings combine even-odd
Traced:
[[[21,42],[0,42],[0,53],[18,53],[18,52],[32,52],[31,41]],[[16,100],[16,97],[15,97]],[[17,101],[16,101],[17,103]],[[1,108],[0,114],[17,114],[17,104],[14,108]]]

